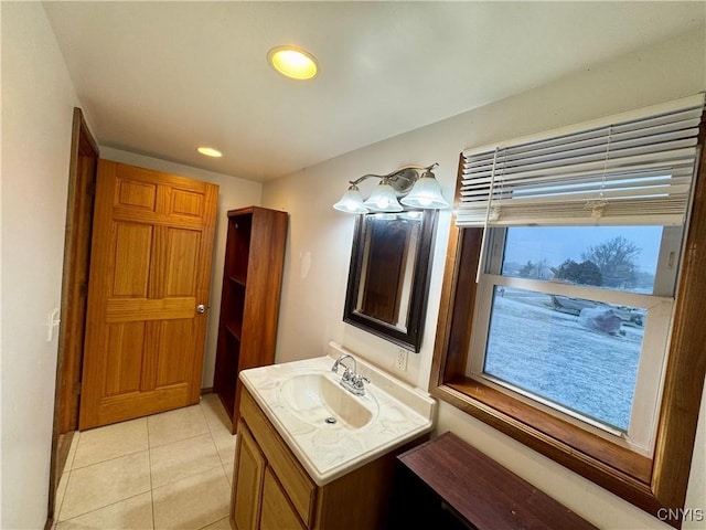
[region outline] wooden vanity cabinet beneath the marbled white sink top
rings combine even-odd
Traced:
[[[395,457],[427,437],[424,435],[324,486],[317,486],[244,388],[231,523],[236,530],[384,528]]]

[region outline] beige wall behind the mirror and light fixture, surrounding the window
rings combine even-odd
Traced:
[[[323,354],[335,340],[394,372],[397,348],[342,322],[353,218],[331,208],[346,182],[361,174],[386,173],[405,163],[439,162],[436,171],[451,198],[459,152],[494,140],[580,123],[695,94],[706,88],[703,30],[557,80],[503,102],[462,114],[346,153],[266,183],[264,205],[289,211],[290,241],[284,279],[277,361]],[[342,124],[344,126],[345,124]],[[374,183],[366,181],[368,192]],[[451,213],[442,212],[431,273],[421,351],[411,354],[407,381],[427,388]],[[592,483],[567,471],[499,432],[440,404],[438,431],[453,431],[493,458],[565,502],[600,528],[668,528]],[[704,405],[699,441],[704,447]],[[700,445],[698,443],[700,442]],[[706,509],[703,451],[697,451],[688,506]],[[702,528],[704,522],[686,523]]]

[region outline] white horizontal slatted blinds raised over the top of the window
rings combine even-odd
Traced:
[[[704,94],[467,149],[459,226],[682,224]]]

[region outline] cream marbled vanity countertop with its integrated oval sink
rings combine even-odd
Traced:
[[[240,371],[239,380],[319,486],[402,447],[434,428],[436,401],[360,357],[365,395],[331,371],[351,354],[335,342],[325,357]],[[328,421],[327,421],[328,420]]]

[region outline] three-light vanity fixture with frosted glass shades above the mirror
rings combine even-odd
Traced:
[[[441,194],[441,187],[431,172],[437,166],[438,163],[404,166],[388,174],[364,174],[350,181],[347,191],[339,202],[333,204],[333,208],[346,213],[402,212],[405,210],[403,204],[425,210],[449,208],[449,203]],[[363,201],[357,184],[373,177],[381,179],[381,182],[371,197]]]

